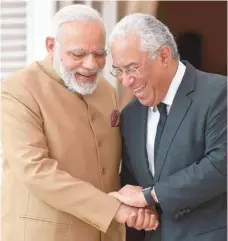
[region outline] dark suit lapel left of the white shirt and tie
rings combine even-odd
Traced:
[[[149,171],[146,149],[148,107],[141,105],[138,100],[136,101],[138,114],[135,118],[135,130],[137,130],[137,134],[136,138],[134,138],[134,146],[137,146],[137,150],[139,151],[135,159],[135,162],[137,162],[137,172],[139,174],[137,177],[140,185],[148,187],[153,184],[153,176]]]

